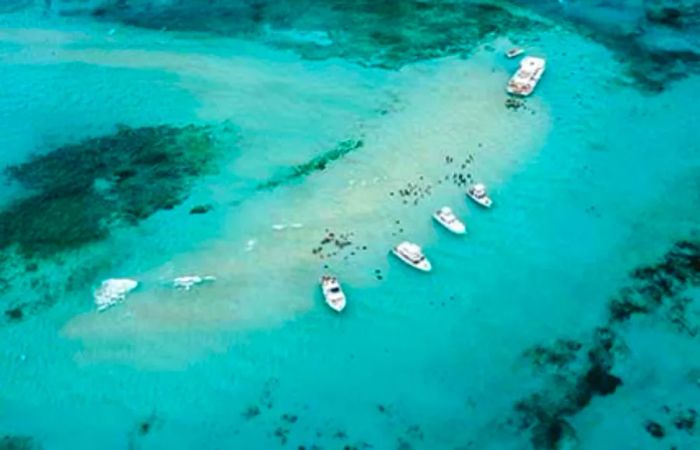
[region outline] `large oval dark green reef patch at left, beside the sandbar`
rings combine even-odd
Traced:
[[[0,324],[31,317],[92,283],[111,256],[96,251],[76,265],[68,252],[182,203],[235,143],[228,123],[121,126],[7,168],[4,176],[25,192],[0,210]]]

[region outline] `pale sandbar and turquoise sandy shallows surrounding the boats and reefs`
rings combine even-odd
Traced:
[[[630,270],[698,225],[700,111],[689,99],[700,79],[640,91],[608,50],[570,31],[528,48],[547,73],[527,109],[510,111],[517,62],[503,56],[505,37],[389,71],[80,18],[0,20],[2,166],[118,123],[228,120],[240,137],[184,204],[51,274],[99,266],[84,286],[0,325],[0,434],[47,449],[529,448],[508,425],[541,380],[523,352],[586,339]],[[346,139],[364,145],[254,188]],[[436,183],[470,155],[490,211]],[[420,177],[433,188],[417,205],[390,195]],[[16,195],[5,185],[0,204]],[[188,214],[203,203],[213,210]],[[466,237],[431,222],[442,205],[465,218]],[[353,232],[352,248],[320,260],[312,249],[326,229]],[[424,246],[434,273],[388,255],[403,238]],[[349,296],[342,315],[323,305],[324,263]],[[191,273],[217,281],[167,284]],[[97,313],[92,290],[108,277],[141,287]],[[33,289],[17,283],[8,301]],[[623,384],[567,418],[578,448],[700,448],[700,430],[644,430],[663,405],[700,404],[687,376],[700,368],[697,338],[653,317],[619,332]],[[260,414],[247,417],[251,407]]]

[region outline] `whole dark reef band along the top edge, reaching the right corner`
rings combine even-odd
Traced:
[[[340,57],[387,69],[468,54],[490,37],[528,40],[556,23],[611,50],[638,89],[660,92],[668,83],[687,77],[689,71],[700,71],[700,53],[695,45],[700,33],[700,6],[692,0],[595,4],[542,0],[46,3],[58,14],[86,14],[163,31],[254,38],[292,49],[308,59]],[[610,17],[616,18],[614,24]]]

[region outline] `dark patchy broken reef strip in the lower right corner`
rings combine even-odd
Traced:
[[[677,242],[659,262],[632,271],[630,284],[609,301],[605,324],[594,331],[589,341],[558,339],[525,351],[524,356],[548,378],[544,388],[515,404],[511,424],[520,431],[530,430],[536,449],[560,448],[562,440],[575,439],[575,430],[567,418],[586,408],[595,396],[612,395],[623,384],[614,373],[616,361],[626,351],[619,337],[620,328],[636,315],[656,314],[675,331],[695,330],[685,315],[692,300],[683,294],[698,285],[697,242]],[[673,415],[670,425],[692,433],[696,418],[694,409],[683,409]],[[658,422],[648,421],[644,429],[655,438],[665,435],[665,428]]]

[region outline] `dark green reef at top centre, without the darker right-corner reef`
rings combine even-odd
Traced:
[[[308,59],[341,57],[388,69],[469,52],[487,36],[548,26],[495,2],[456,0],[123,0],[84,13],[157,30],[253,37]]]

